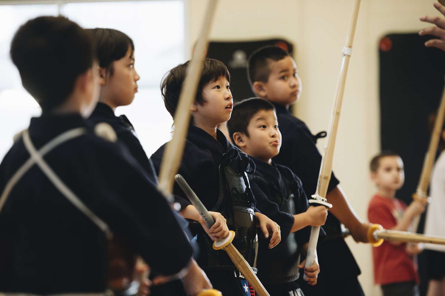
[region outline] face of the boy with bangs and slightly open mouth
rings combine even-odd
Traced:
[[[192,109],[195,125],[213,128],[230,119],[233,98],[226,77],[221,76],[216,81],[204,85],[202,98],[205,102],[202,105],[194,105]]]

